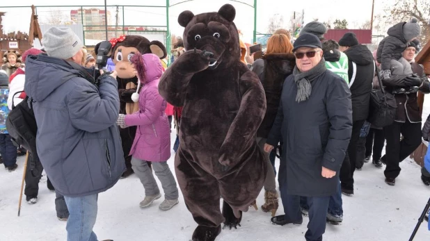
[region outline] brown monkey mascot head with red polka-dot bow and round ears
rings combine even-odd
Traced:
[[[121,35],[119,38],[109,40],[112,44],[111,58],[115,64],[115,70],[120,78],[134,78],[134,68],[130,58],[134,53],[154,53],[160,59],[166,58],[167,50],[164,44],[154,40],[150,42],[141,35]],[[99,44],[94,48],[95,54],[99,49]]]

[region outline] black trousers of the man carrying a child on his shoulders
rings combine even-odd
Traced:
[[[385,177],[396,178],[400,174],[402,160],[407,158],[421,144],[421,123],[411,123],[406,119],[405,123],[394,122],[384,127],[387,147],[382,157],[385,167]],[[403,139],[400,141],[400,134]]]

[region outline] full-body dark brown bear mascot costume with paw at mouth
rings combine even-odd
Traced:
[[[255,140],[266,98],[258,77],[240,61],[235,15],[230,4],[218,13],[181,13],[178,22],[185,28],[188,51],[159,83],[166,101],[184,107],[175,172],[198,223],[193,241],[215,240],[223,222],[236,227],[266,177],[266,161]]]

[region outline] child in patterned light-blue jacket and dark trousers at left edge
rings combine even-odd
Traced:
[[[13,145],[8,130],[6,130],[6,119],[8,118],[8,75],[0,72],[0,153],[3,165],[8,172],[17,169],[17,147]]]

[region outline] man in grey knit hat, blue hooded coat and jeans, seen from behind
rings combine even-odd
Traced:
[[[47,56],[27,58],[24,87],[38,124],[38,155],[67,203],[67,240],[97,240],[97,194],[125,171],[116,72],[101,76],[97,89],[79,65],[82,43],[70,28],[49,28],[42,44]]]

